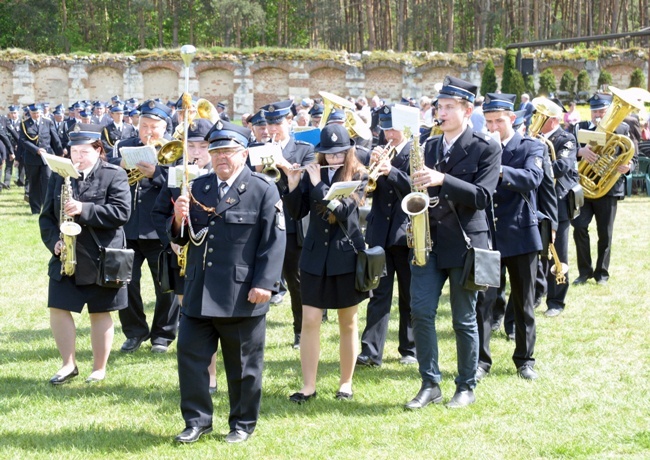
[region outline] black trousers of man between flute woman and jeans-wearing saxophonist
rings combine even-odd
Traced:
[[[397,275],[399,306],[399,344],[397,351],[401,356],[415,356],[415,341],[411,325],[411,267],[409,266],[409,248],[391,246],[386,249],[386,276],[379,281],[377,289],[372,291],[368,302],[366,328],[361,335],[361,353],[381,364],[384,345],[393,304],[393,285]]]

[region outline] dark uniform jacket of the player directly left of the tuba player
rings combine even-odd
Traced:
[[[578,170],[576,169],[577,148],[576,139],[573,134],[558,128],[551,134],[548,140],[555,149],[555,161],[553,162],[553,175],[555,176],[555,193],[558,200],[559,220],[569,219],[569,203],[567,196],[569,190],[578,182]]]

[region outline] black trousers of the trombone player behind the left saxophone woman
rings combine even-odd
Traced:
[[[173,292],[163,293],[158,283],[158,256],[163,247],[160,240],[127,240],[127,247],[135,251],[133,260],[133,276],[127,291],[129,306],[120,310],[122,331],[127,338],[151,337],[152,344],[169,345],[176,338],[178,328],[179,305]],[[156,305],[154,309],[151,329],[147,324],[144,305],[140,294],[140,280],[142,278],[142,265],[145,260],[149,265],[151,276],[154,279],[156,292]]]

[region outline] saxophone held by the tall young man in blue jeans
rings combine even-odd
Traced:
[[[404,135],[411,136],[408,128]],[[424,167],[424,154],[420,147],[419,134],[412,136],[411,152],[409,157],[410,174],[413,177],[415,171]],[[431,252],[431,229],[429,227],[429,206],[431,206],[429,195],[420,192],[414,185],[411,185],[411,193],[402,199],[402,210],[409,216],[406,225],[406,244],[413,249],[413,265],[423,267],[429,260]],[[437,204],[434,203],[433,206]]]

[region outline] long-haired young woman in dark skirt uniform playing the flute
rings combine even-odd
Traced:
[[[368,297],[367,292],[357,291],[354,284],[357,260],[354,249],[365,247],[359,226],[359,205],[367,182],[366,170],[357,159],[354,141],[342,125],[323,128],[316,152],[317,163],[307,165],[302,182],[300,171],[285,168],[289,178],[289,194],[284,197],[287,211],[296,220],[311,213],[300,257],[303,387],[290,396],[296,403],[316,396],[320,324],[322,310],[326,308],[338,310],[339,315],[341,379],[336,398],[352,398],[352,375],[359,343],[357,306]],[[355,193],[341,200],[324,200],[333,183],[350,180],[362,181]]]

